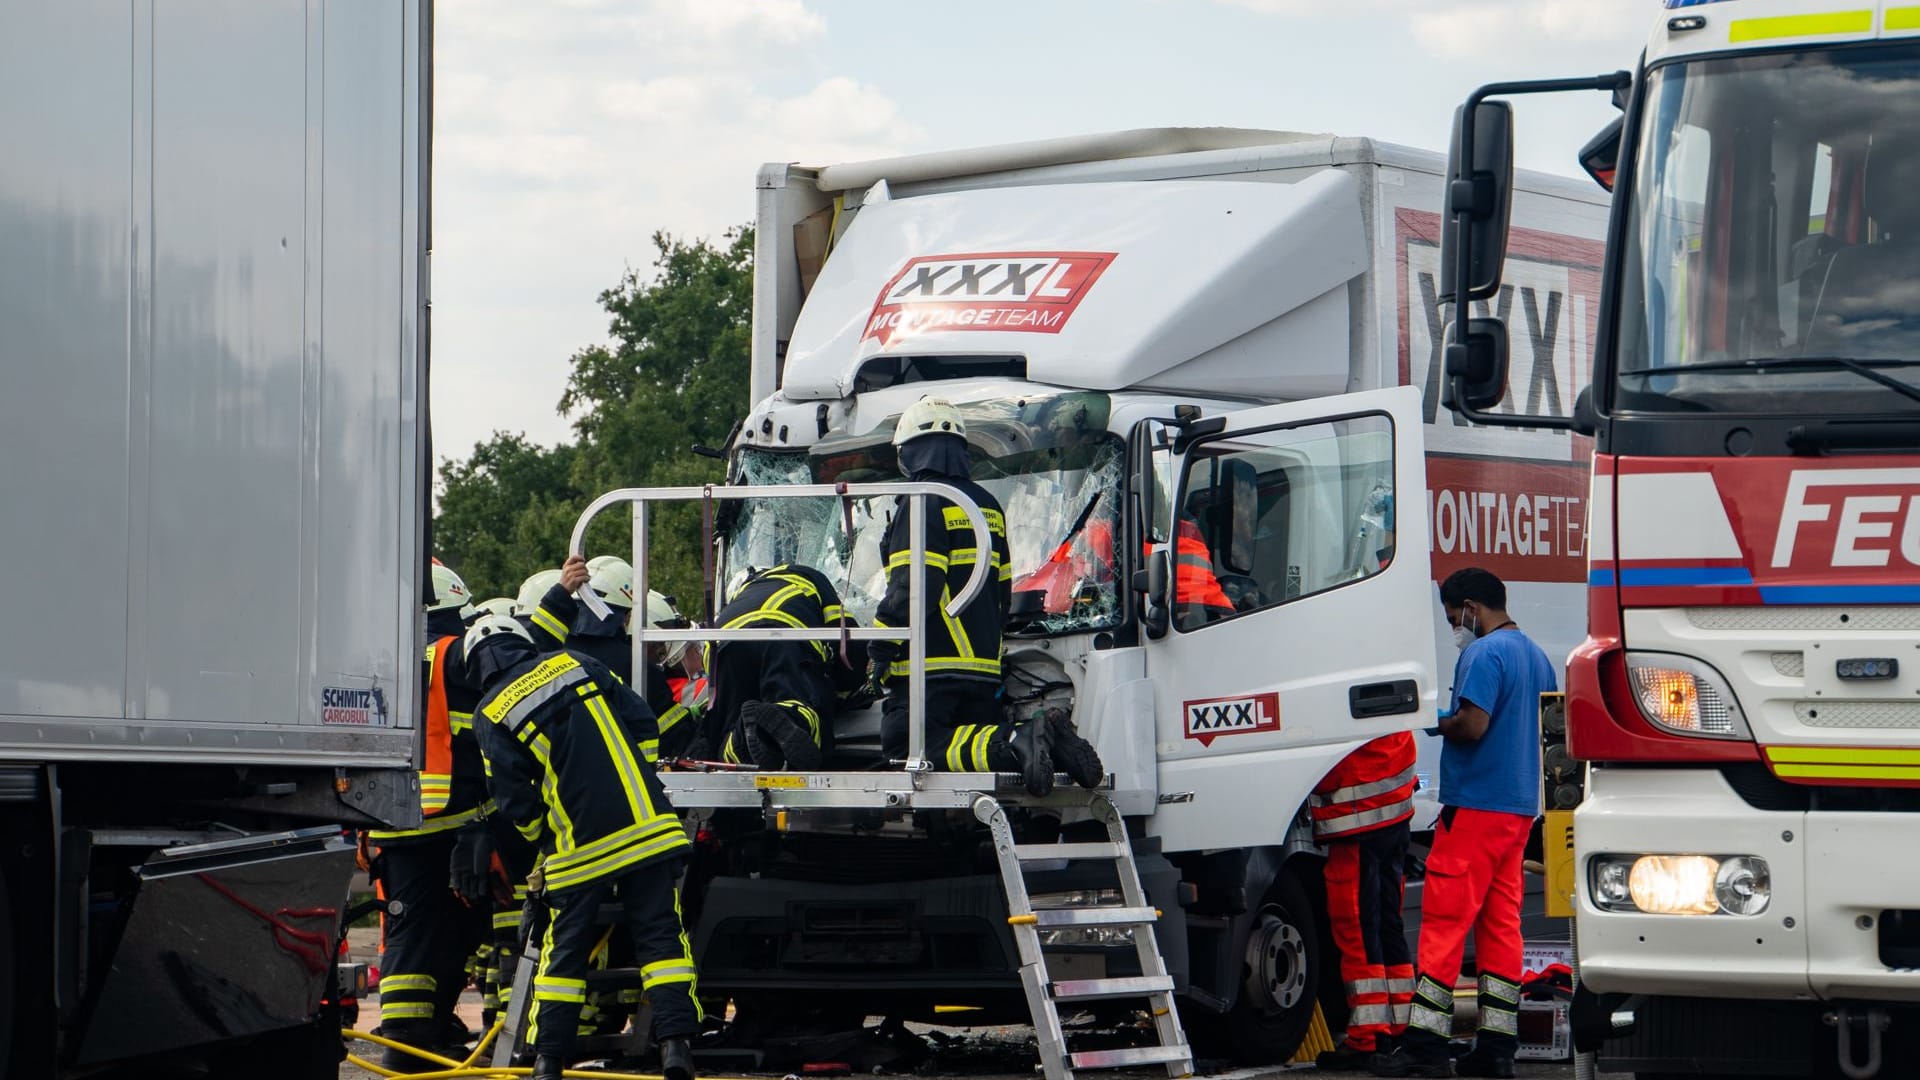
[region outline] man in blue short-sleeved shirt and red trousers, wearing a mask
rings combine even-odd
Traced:
[[[1480,969],[1480,1030],[1461,1076],[1513,1076],[1521,1007],[1521,865],[1540,815],[1540,696],[1553,663],[1507,615],[1507,586],[1469,567],[1440,584],[1465,642],[1453,707],[1440,719],[1440,824],[1421,896],[1419,982],[1400,1045],[1379,1076],[1453,1076],[1453,984],[1467,934]]]

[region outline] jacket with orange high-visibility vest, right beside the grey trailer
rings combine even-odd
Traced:
[[[486,798],[486,763],[474,738],[474,707],[480,692],[467,673],[467,653],[461,638],[444,636],[426,646],[420,657],[426,719],[420,780],[420,826],[378,828],[367,836],[380,844],[397,844],[434,836],[486,817],[492,803]]]

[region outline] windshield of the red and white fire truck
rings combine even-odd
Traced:
[[[1920,409],[1920,44],[1670,63],[1640,100],[1615,407]]]

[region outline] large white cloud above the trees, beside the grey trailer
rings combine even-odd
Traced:
[[[651,234],[753,217],[768,160],[922,140],[879,86],[812,69],[804,0],[461,0],[436,19],[434,429],[566,438],[566,357]]]

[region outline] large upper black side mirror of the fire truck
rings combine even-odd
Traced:
[[[1457,292],[1461,244],[1469,259],[1467,300],[1500,292],[1513,221],[1513,106],[1480,102],[1467,131],[1467,106],[1453,111],[1446,215],[1440,229],[1440,294]],[[1465,225],[1465,233],[1461,227]]]

